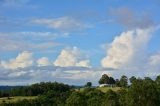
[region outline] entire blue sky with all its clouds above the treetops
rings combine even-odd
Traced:
[[[159,10],[159,0],[0,0],[0,85],[155,78]]]

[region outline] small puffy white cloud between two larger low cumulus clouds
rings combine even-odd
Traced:
[[[38,66],[49,66],[51,65],[51,62],[49,61],[47,57],[42,57],[37,60],[37,64]]]

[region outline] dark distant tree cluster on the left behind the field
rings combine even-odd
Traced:
[[[57,82],[41,82],[36,83],[31,86],[22,86],[19,88],[0,91],[0,97],[8,97],[8,96],[38,96],[44,94],[48,91],[68,91],[70,90],[69,85],[65,85]]]

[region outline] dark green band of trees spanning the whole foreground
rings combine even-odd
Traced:
[[[18,95],[18,92],[25,92],[23,95],[37,95],[37,99],[3,103],[2,106],[160,106],[160,76],[155,80],[149,77],[127,78],[124,75],[120,79],[114,79],[104,74],[99,83],[114,84],[120,89],[102,92],[93,88],[91,82],[87,82],[84,90],[81,91],[62,83],[42,82],[26,88],[14,89],[17,92],[15,95]],[[12,90],[8,93],[14,94]]]

